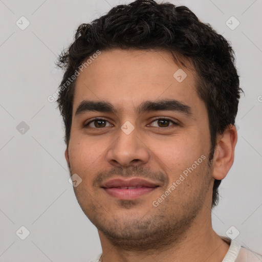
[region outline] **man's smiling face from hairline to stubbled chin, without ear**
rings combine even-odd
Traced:
[[[65,157],[83,212],[114,245],[164,244],[211,207],[208,115],[187,65],[111,50],[77,77]]]

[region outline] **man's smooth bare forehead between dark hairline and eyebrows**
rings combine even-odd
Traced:
[[[183,62],[187,68],[163,51],[101,51],[79,71],[73,112],[83,100],[110,101],[121,110],[130,104],[158,99],[177,99],[193,107],[201,102],[195,90],[195,71],[189,61]]]

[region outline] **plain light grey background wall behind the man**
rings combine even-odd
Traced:
[[[0,261],[89,261],[101,251],[97,230],[68,182],[62,120],[47,97],[62,76],[56,56],[78,25],[129,2],[0,0]],[[221,235],[234,226],[239,244],[262,253],[262,1],[170,2],[188,6],[235,50],[246,95],[236,117],[235,161],[212,221]],[[21,16],[30,21],[25,30],[16,25]],[[240,22],[234,30],[226,25],[231,16]],[[30,128],[25,134],[16,129],[21,121]],[[21,226],[30,231],[25,240],[16,234]]]

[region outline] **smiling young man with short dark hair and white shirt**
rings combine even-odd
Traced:
[[[102,246],[94,261],[262,260],[211,225],[242,91],[222,35],[184,6],[138,0],[80,25],[58,64],[65,158]]]

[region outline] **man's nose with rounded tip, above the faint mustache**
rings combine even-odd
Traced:
[[[139,137],[136,128],[130,134],[123,130],[119,128],[113,138],[115,142],[108,149],[106,160],[114,166],[146,164],[150,157],[150,150],[143,142],[143,138]]]

